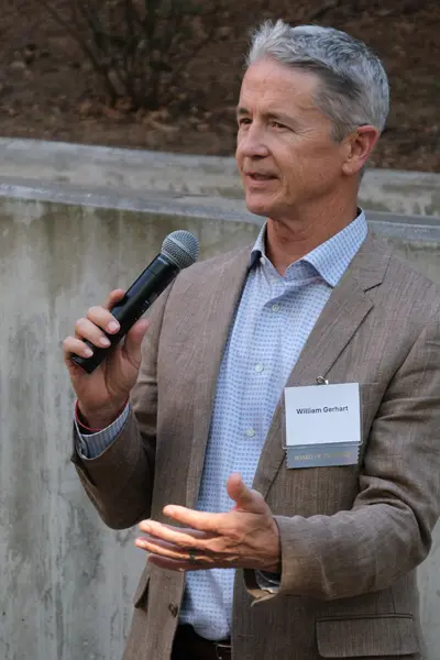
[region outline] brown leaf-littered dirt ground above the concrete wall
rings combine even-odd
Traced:
[[[307,22],[326,4],[316,22],[363,38],[389,74],[392,113],[372,165],[440,172],[440,0],[230,0],[219,37],[182,76],[185,102],[153,113],[109,107],[90,64],[38,0],[1,4],[2,136],[230,155],[250,29],[266,18]]]

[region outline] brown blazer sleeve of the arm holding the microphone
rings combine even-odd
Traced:
[[[79,455],[74,425],[75,463],[88,497],[112,529],[127,529],[150,516],[156,444],[157,352],[170,287],[151,309],[142,364],[130,395],[130,413],[118,438],[96,459]]]

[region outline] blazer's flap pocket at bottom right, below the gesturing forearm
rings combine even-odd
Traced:
[[[405,658],[420,652],[410,615],[321,618],[316,623],[321,658]]]

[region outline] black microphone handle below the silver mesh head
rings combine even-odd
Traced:
[[[99,349],[85,340],[85,343],[94,351],[92,356],[81,358],[73,353],[70,360],[88,374],[91,374],[102,360],[107,358],[109,351],[121,341],[130,328],[134,326],[168,284],[173,282],[179,270],[164,254],[158,254],[125,292],[122,300],[110,310],[121,326],[119,332],[116,334],[108,334],[103,331],[110,340],[111,345],[107,349]]]

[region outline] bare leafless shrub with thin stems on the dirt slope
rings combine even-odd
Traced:
[[[212,38],[222,0],[208,12],[201,0],[144,0],[144,14],[135,0],[69,0],[70,19],[51,0],[40,3],[77,42],[112,103],[130,97],[135,109],[153,110]]]

